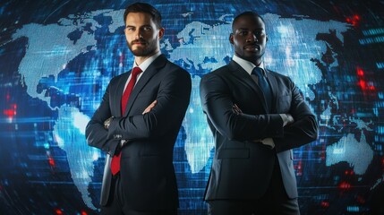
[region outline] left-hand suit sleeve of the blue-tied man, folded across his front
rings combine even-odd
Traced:
[[[282,135],[283,120],[278,114],[235,114],[231,87],[222,77],[213,73],[203,76],[200,90],[204,113],[216,130],[226,138],[252,141]]]

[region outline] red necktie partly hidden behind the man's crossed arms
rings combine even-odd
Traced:
[[[131,95],[132,89],[134,87],[134,84],[136,83],[137,80],[137,75],[140,74],[141,68],[140,67],[134,67],[132,69],[132,75],[131,75],[131,80],[128,82],[128,85],[126,89],[124,90],[123,97],[122,97],[122,116],[124,116],[125,112],[125,107],[127,105],[129,96]],[[120,144],[120,143],[119,143]],[[120,158],[121,158],[122,153],[120,152],[118,155],[115,155],[112,158],[111,161],[111,172],[112,175],[116,175],[118,172],[120,172]]]

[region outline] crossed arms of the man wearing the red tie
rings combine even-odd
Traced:
[[[144,106],[142,112],[111,117],[110,91],[115,90],[111,86],[116,86],[116,82],[111,80],[100,106],[87,125],[86,137],[90,146],[115,154],[122,140],[157,139],[172,133],[175,127],[179,128],[190,99],[192,82],[189,73],[173,71],[159,82],[159,86],[152,85],[153,89],[149,88],[149,91],[156,97]],[[141,100],[135,108],[140,108],[142,103]]]

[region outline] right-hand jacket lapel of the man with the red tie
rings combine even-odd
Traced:
[[[160,69],[161,67],[164,67],[164,65],[166,64],[166,61],[167,61],[166,56],[163,56],[163,55],[158,56],[158,58],[156,58],[155,61],[153,61],[152,64],[149,65],[149,67],[144,71],[144,73],[142,73],[141,78],[133,87],[131,95],[128,99],[127,106],[125,107],[124,116],[128,115],[134,103],[134,100],[137,98],[142,88],[149,82],[149,80],[153,77],[153,75],[158,73],[158,69]]]

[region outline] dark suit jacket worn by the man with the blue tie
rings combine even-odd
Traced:
[[[216,142],[207,201],[260,198],[269,186],[274,162],[280,165],[288,197],[297,197],[292,149],[316,140],[318,125],[294,82],[266,73],[273,91],[270,113],[259,86],[235,61],[201,79],[201,105]],[[243,114],[233,111],[234,104]],[[283,127],[278,114],[291,114],[294,124]],[[273,138],[275,149],[252,142],[263,138]]]

